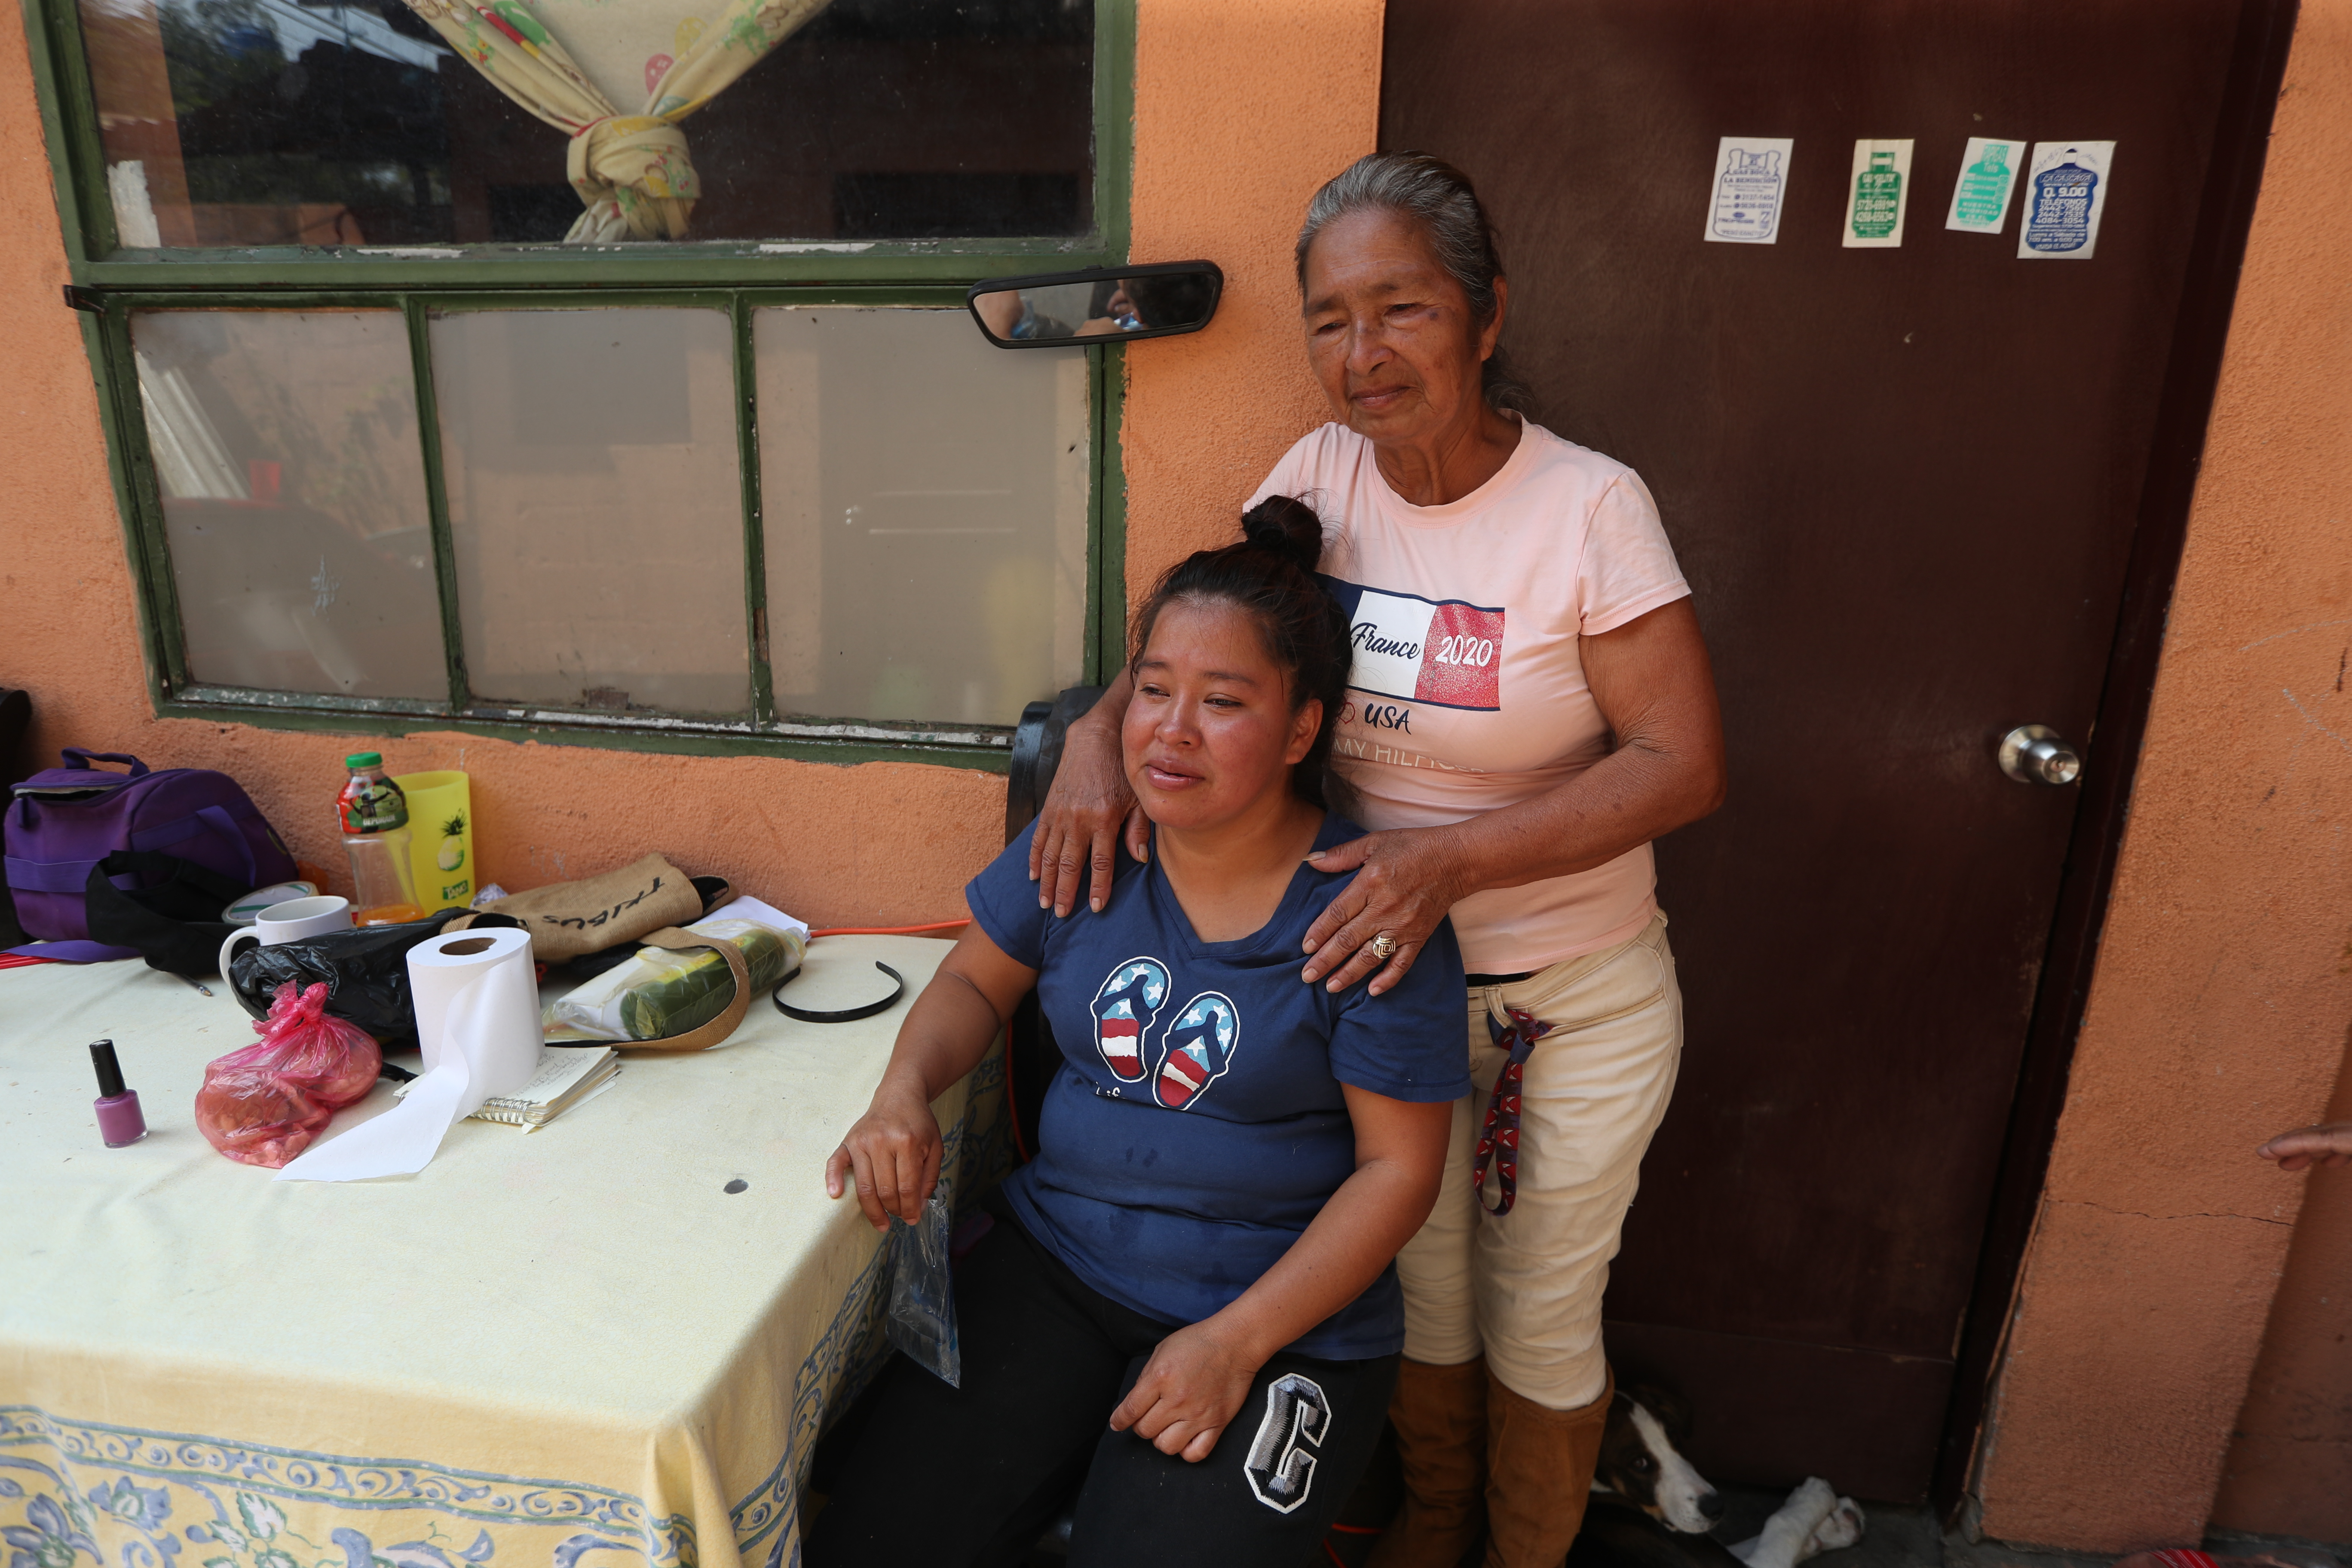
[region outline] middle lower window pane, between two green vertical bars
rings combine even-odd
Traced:
[[[748,712],[727,315],[435,315],[433,390],[473,696]]]

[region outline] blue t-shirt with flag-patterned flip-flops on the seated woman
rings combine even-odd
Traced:
[[[1037,971],[1061,1044],[1040,1154],[1004,1194],[1089,1286],[1197,1324],[1254,1286],[1355,1173],[1341,1084],[1390,1100],[1470,1093],[1454,926],[1437,926],[1392,990],[1334,997],[1298,978],[1298,943],[1355,872],[1301,865],[1265,926],[1204,943],[1157,860],[1124,851],[1108,910],[1054,919],[1028,879],[1030,832],[964,889],[990,940]],[[1327,816],[1315,849],[1362,832]],[[1291,1345],[1331,1361],[1402,1347],[1395,1267]]]

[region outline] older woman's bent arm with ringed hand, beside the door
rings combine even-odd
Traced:
[[[1404,978],[1446,910],[1482,889],[1566,877],[1696,823],[1724,804],[1724,729],[1715,670],[1689,599],[1583,637],[1592,701],[1616,738],[1602,762],[1517,806],[1449,827],[1371,832],[1324,851],[1322,870],[1362,867],[1348,891],[1308,926],[1301,976],[1383,992]],[[1388,933],[1397,952],[1381,966],[1367,943]]]

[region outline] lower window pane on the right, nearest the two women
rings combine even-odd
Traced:
[[[753,315],[776,712],[1018,724],[1080,679],[1087,360],[962,310]]]

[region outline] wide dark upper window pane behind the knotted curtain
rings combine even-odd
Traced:
[[[670,87],[708,92],[694,47],[743,28],[760,38],[753,9],[532,0],[485,21],[470,0],[80,0],[132,247],[562,240],[583,212],[564,172],[569,129],[597,113],[541,101],[543,120],[494,85],[499,47],[517,47],[508,19],[553,38],[612,113],[649,115],[675,106]],[[680,122],[701,188],[684,237],[1094,228],[1094,0],[757,14],[807,21]],[[666,80],[673,66],[680,80]],[[703,78],[684,80],[689,68]]]

